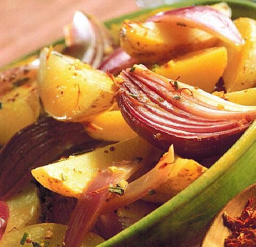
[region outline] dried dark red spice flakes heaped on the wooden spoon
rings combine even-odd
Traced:
[[[225,212],[224,225],[231,229],[225,241],[225,247],[253,247],[256,243],[256,201],[249,199],[244,211],[239,217],[228,216]]]

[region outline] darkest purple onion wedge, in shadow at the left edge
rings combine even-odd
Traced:
[[[76,144],[94,141],[80,123],[66,123],[46,117],[20,130],[0,152],[0,198],[16,194],[28,180],[31,170],[58,159]]]

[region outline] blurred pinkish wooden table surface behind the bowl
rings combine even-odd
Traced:
[[[0,0],[0,66],[63,36],[76,10],[100,20],[138,9],[134,0]]]

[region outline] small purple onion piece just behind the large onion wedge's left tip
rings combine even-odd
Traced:
[[[137,63],[135,58],[132,58],[121,47],[114,50],[98,67],[101,71],[107,71],[113,75],[117,75],[127,67],[131,67]]]

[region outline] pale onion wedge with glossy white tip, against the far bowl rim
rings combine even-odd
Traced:
[[[80,11],[76,11],[73,22],[65,26],[64,34],[68,46],[65,53],[94,68],[112,51],[112,40],[105,26]]]

